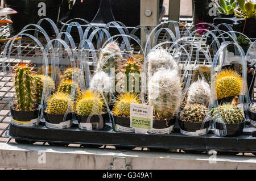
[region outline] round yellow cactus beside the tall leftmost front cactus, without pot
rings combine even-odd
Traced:
[[[49,98],[46,112],[53,115],[64,115],[68,110],[68,106],[70,112],[72,112],[73,102],[70,99],[70,95],[64,92],[56,92]]]

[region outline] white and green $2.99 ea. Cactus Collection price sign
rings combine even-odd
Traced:
[[[152,129],[153,107],[143,104],[130,105],[130,127],[135,129],[135,133],[147,133]]]

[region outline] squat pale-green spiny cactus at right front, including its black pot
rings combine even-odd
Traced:
[[[213,120],[216,123],[215,128],[223,131],[223,124],[216,121],[221,116],[221,119],[226,125],[226,136],[237,136],[245,127],[245,116],[243,110],[239,107],[233,106],[232,104],[224,103],[218,108],[213,108],[212,115]]]

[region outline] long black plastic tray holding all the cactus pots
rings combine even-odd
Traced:
[[[114,132],[109,126],[101,131],[82,131],[79,128],[49,129],[36,127],[18,127],[10,124],[7,136],[32,142],[51,142],[60,144],[114,145],[127,147],[216,150],[232,152],[256,152],[256,128],[246,125],[243,135],[237,137],[185,136],[176,129],[171,134],[138,134]]]

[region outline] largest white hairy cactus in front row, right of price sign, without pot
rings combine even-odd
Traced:
[[[182,96],[177,70],[159,69],[148,82],[149,104],[154,106],[156,120],[172,119]]]

